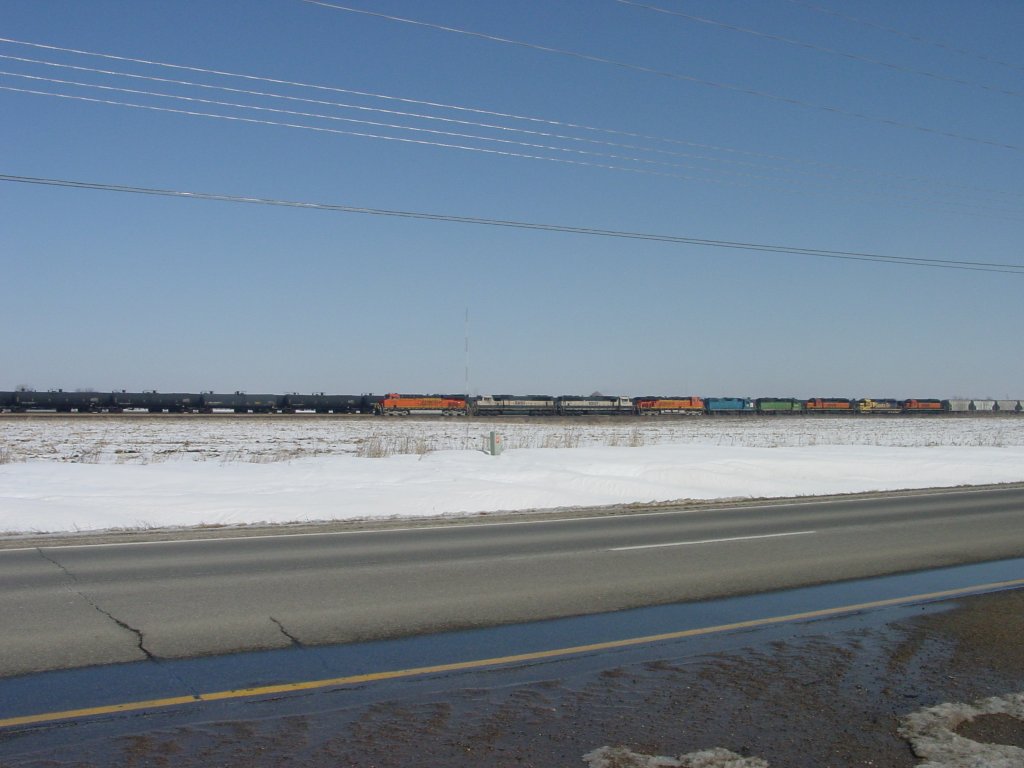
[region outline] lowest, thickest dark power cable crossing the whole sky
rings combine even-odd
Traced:
[[[480,226],[498,226],[536,231],[563,232],[567,234],[585,234],[601,238],[616,238],[623,240],[650,241],[672,245],[705,246],[709,248],[726,248],[740,251],[761,253],[791,254],[811,256],[815,258],[843,259],[888,264],[903,264],[906,266],[932,267],[943,269],[964,269],[970,271],[1001,272],[1005,274],[1024,275],[1024,264],[992,263],[982,261],[966,261],[952,259],[925,259],[910,256],[887,256],[884,254],[863,253],[857,251],[835,251],[817,248],[798,248],[795,246],[769,245],[764,243],[740,243],[726,240],[710,240],[676,234],[657,234],[652,232],[636,232],[621,229],[601,229],[596,227],[569,226],[565,224],[548,224],[510,219],[489,219],[475,216],[460,216],[455,214],[424,213],[419,211],[401,211],[386,208],[365,208],[332,203],[311,203],[273,198],[242,197],[216,193],[185,191],[180,189],[162,189],[144,186],[127,186],[123,184],[106,184],[91,181],[75,181],[70,179],[45,178],[37,176],[20,176],[0,173],[0,181],[22,184],[38,184],[43,186],[59,186],[75,189],[93,189],[100,191],[124,193],[131,195],[146,195],[164,198],[189,200],[219,201],[224,203],[247,203],[251,205],[278,206],[285,208],[302,208],[308,210],[332,211],[336,213],[357,213],[372,216],[389,216],[396,218],[418,219],[460,224],[476,224]]]

